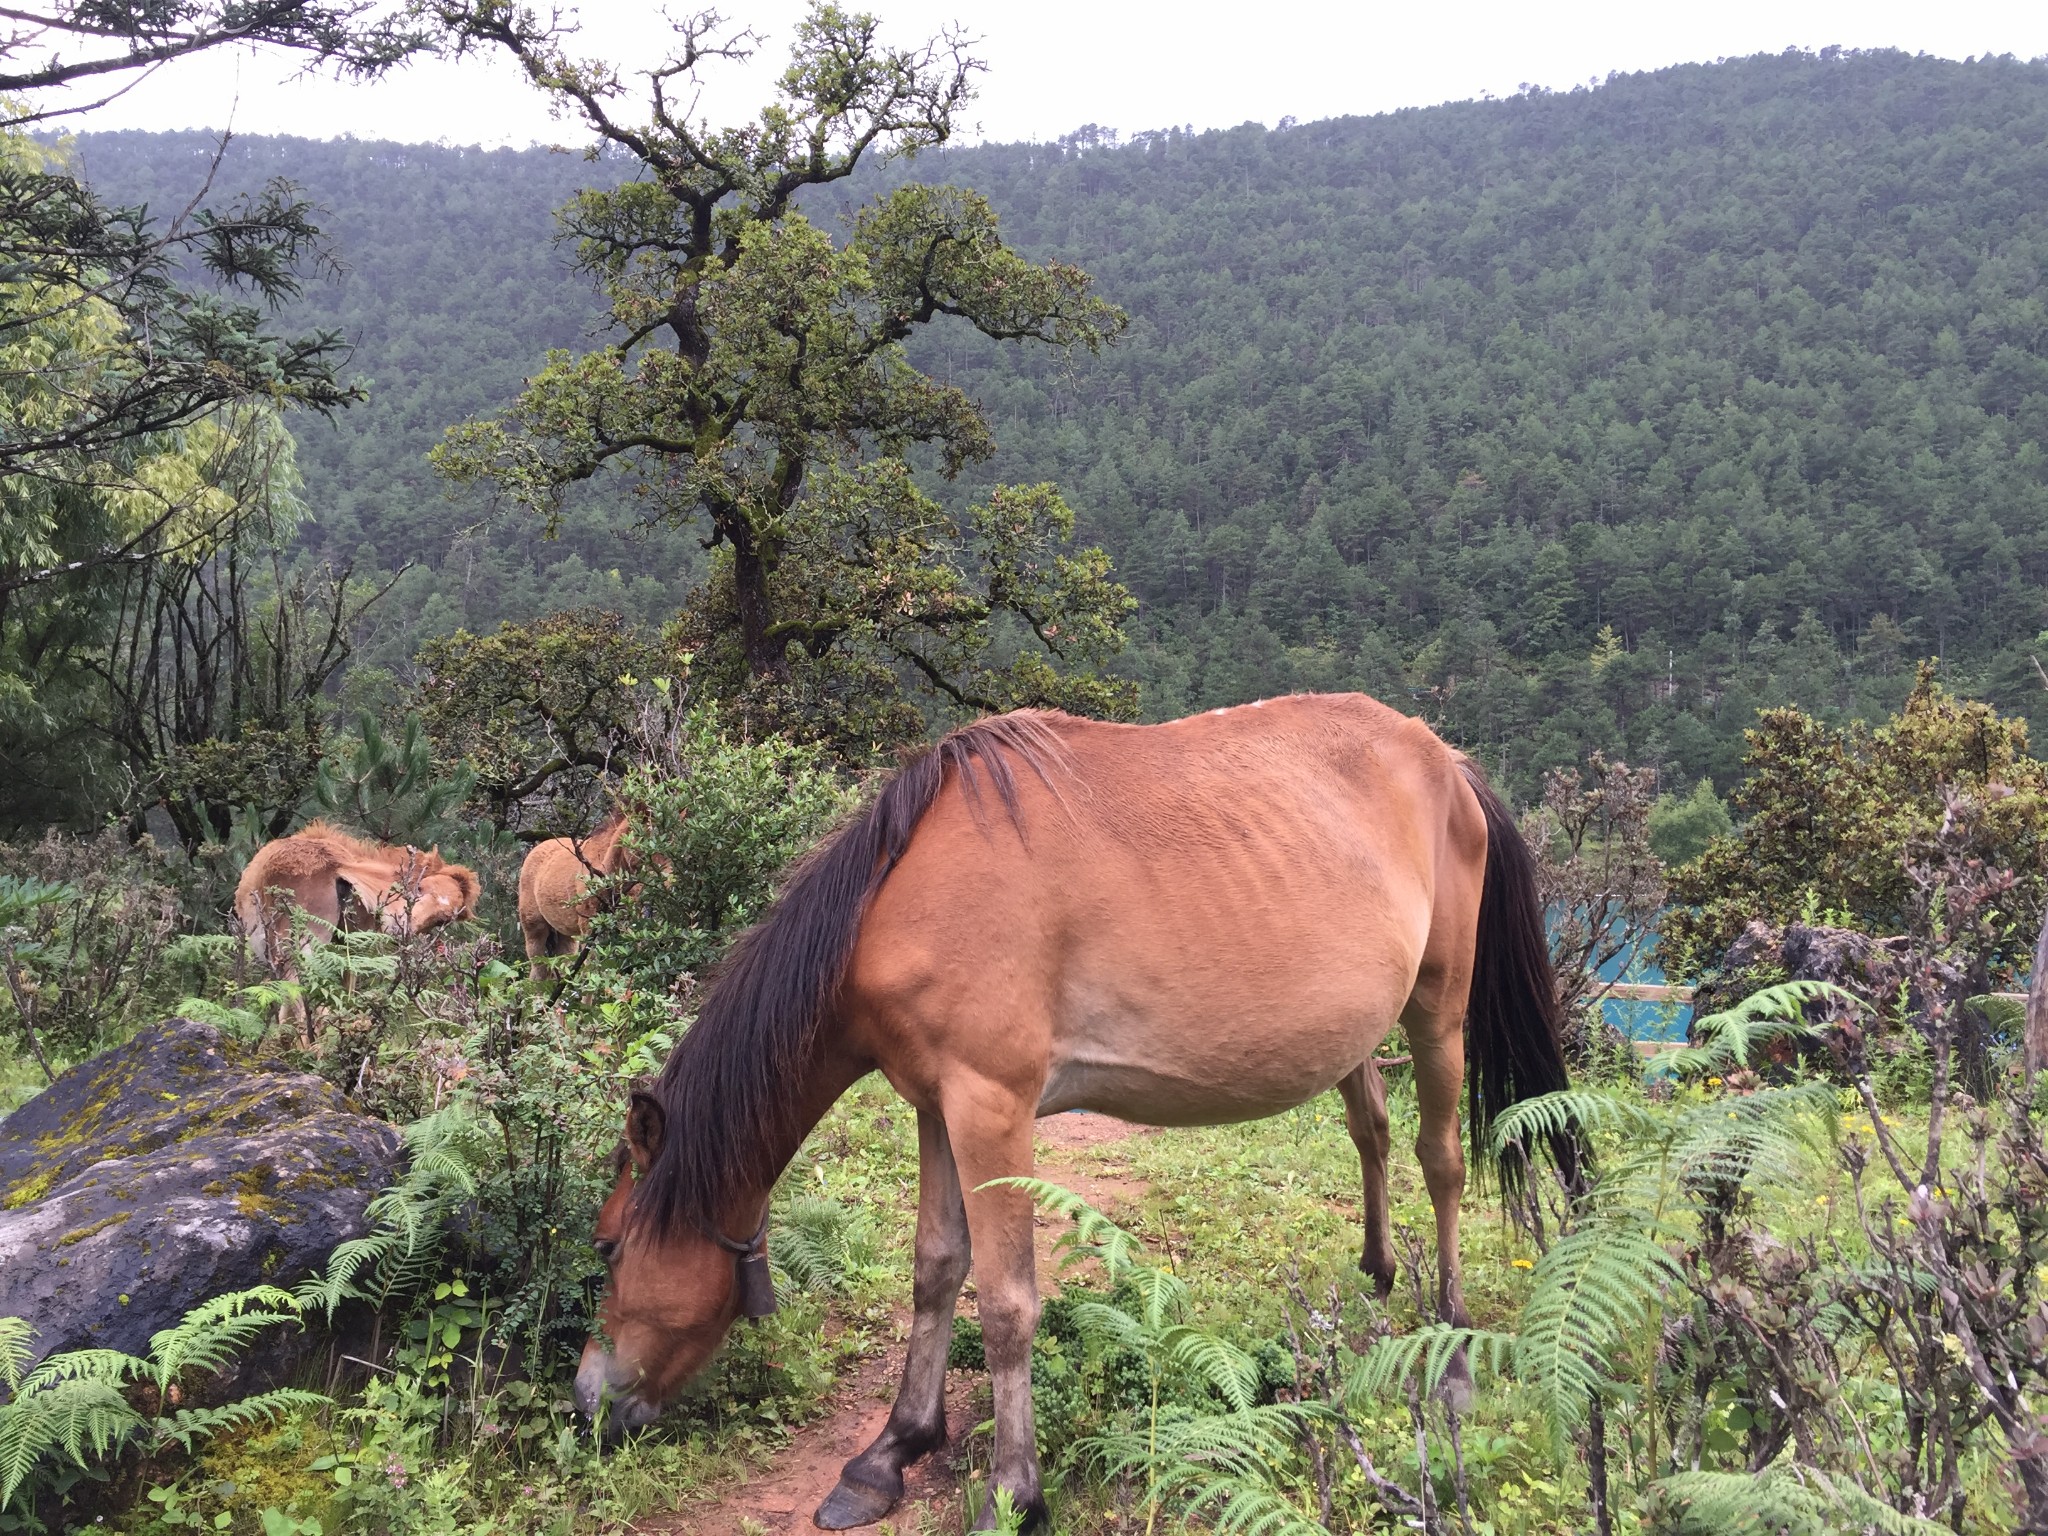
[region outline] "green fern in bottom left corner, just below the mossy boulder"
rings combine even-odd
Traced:
[[[276,1286],[258,1286],[201,1303],[176,1327],[150,1339],[147,1356],[119,1350],[68,1350],[29,1368],[33,1329],[18,1317],[0,1319],[0,1509],[33,1507],[37,1491],[66,1462],[92,1466],[137,1444],[145,1456],[172,1446],[186,1452],[199,1440],[293,1409],[322,1407],[319,1393],[283,1389],[205,1409],[150,1417],[127,1397],[135,1382],[158,1401],[186,1372],[219,1372],[260,1331],[297,1323],[299,1303]]]

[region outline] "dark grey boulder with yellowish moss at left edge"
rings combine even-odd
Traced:
[[[37,1356],[141,1354],[207,1296],[313,1274],[397,1171],[397,1128],[334,1085],[156,1024],[0,1120],[0,1317]]]

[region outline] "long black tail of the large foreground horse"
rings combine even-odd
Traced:
[[[1473,995],[1466,1006],[1466,1081],[1470,1083],[1473,1159],[1487,1155],[1493,1120],[1509,1106],[1571,1085],[1565,1071],[1563,1016],[1550,940],[1544,934],[1536,860],[1501,797],[1479,766],[1464,762],[1464,780],[1487,817],[1487,874],[1479,895],[1479,936],[1473,946]],[[1579,1163],[1571,1128],[1550,1137],[1550,1155],[1567,1184]],[[1497,1157],[1501,1188],[1522,1184],[1526,1151]]]

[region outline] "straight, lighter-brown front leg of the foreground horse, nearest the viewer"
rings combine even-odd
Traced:
[[[985,1188],[1032,1171],[1038,1096],[969,1081],[946,1096],[946,1128],[967,1186],[967,1227],[975,1235],[975,1296],[981,1348],[995,1391],[995,1454],[989,1497],[975,1530],[993,1530],[995,1493],[1008,1489],[1026,1526],[1047,1520],[1038,1479],[1038,1432],[1030,1403],[1030,1343],[1038,1331],[1038,1257],[1032,1200],[1022,1190]]]

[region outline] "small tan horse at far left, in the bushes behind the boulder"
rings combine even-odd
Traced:
[[[256,850],[236,885],[236,920],[256,958],[291,977],[293,911],[305,946],[369,928],[403,938],[473,915],[481,889],[475,870],[438,848],[393,848],[311,821]],[[307,1034],[303,1004],[291,1012]]]

